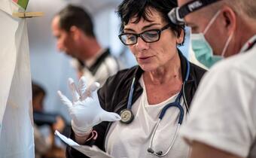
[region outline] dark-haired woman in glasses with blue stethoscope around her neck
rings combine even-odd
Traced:
[[[119,5],[119,38],[138,65],[109,77],[96,99],[105,111],[120,114],[121,120],[92,124],[98,135],[94,142],[87,140],[93,132],[77,135],[83,128],[75,126],[75,141],[93,143],[114,157],[188,156],[189,147],[178,129],[187,119],[205,70],[188,62],[177,48],[184,42],[184,26],[175,25],[167,16],[176,6],[170,0],[124,0]],[[74,122],[79,118],[73,117]],[[67,153],[84,156],[71,147]]]

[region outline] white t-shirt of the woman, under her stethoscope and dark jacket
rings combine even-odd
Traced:
[[[139,80],[142,85],[143,93],[136,100],[132,106],[132,111],[134,114],[134,120],[130,124],[123,124],[120,121],[114,122],[111,125],[108,135],[106,137],[105,149],[106,152],[114,157],[158,157],[148,153],[148,147],[151,139],[151,132],[157,123],[160,111],[165,105],[170,102],[175,102],[176,97],[172,96],[164,102],[157,105],[148,105],[147,94],[145,90],[145,85],[143,83],[142,77]],[[184,109],[184,119],[186,120],[186,108],[183,105],[183,100],[181,97],[181,105]],[[154,135],[152,149],[156,152],[162,150],[163,153],[166,152],[172,139],[175,135],[175,130],[178,126],[178,108],[169,108],[166,111],[160,125],[157,128],[157,132]],[[175,139],[175,143],[172,149],[166,156],[168,158],[186,158],[189,153],[189,147],[179,136]]]

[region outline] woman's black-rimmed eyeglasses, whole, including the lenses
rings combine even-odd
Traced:
[[[161,32],[163,30],[169,28],[170,24],[167,24],[166,26],[163,26],[162,29],[151,29],[147,30],[145,32],[136,34],[136,33],[122,33],[118,35],[120,38],[120,41],[122,41],[123,44],[125,45],[133,45],[136,44],[138,41],[138,38],[142,38],[143,41],[147,43],[152,43],[155,41],[159,41]]]

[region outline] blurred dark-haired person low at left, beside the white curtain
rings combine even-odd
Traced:
[[[43,87],[32,83],[35,158],[62,158],[65,157],[65,150],[56,145],[53,133],[55,130],[63,132],[66,122],[58,114],[44,112],[45,96]]]

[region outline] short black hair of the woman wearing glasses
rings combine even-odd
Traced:
[[[151,22],[148,18],[148,14],[151,14],[151,12],[148,9],[153,8],[162,15],[163,20],[170,24],[172,31],[179,37],[182,30],[184,31],[184,25],[175,25],[168,17],[169,11],[175,7],[178,7],[176,0],[123,0],[123,2],[117,7],[116,11],[121,20],[120,32],[123,32],[124,26],[133,17],[136,17],[135,23],[139,23],[139,20],[142,18]],[[182,44],[183,43],[184,40]]]

